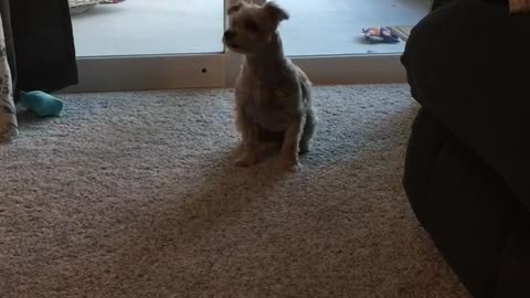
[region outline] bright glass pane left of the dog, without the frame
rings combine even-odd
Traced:
[[[77,55],[149,56],[222,53],[222,0],[70,0]]]

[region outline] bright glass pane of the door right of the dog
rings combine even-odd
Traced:
[[[285,52],[292,56],[401,53],[405,45],[401,30],[415,25],[426,15],[431,3],[428,0],[276,2],[292,17],[280,26]],[[388,43],[368,40],[362,33],[370,28],[384,28],[395,39],[389,39]]]

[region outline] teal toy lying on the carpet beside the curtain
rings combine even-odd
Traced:
[[[22,93],[20,105],[39,117],[57,117],[63,110],[63,102],[41,91]]]

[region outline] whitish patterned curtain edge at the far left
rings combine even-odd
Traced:
[[[0,142],[18,135],[17,110],[13,103],[13,84],[8,63],[2,18],[0,17]]]

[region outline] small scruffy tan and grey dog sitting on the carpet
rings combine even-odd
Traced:
[[[283,164],[297,170],[298,153],[309,150],[317,116],[311,82],[284,55],[277,30],[289,15],[274,2],[258,6],[245,1],[232,6],[227,14],[230,26],[223,43],[245,55],[235,84],[235,120],[244,151],[236,164],[257,163],[263,136],[280,135]]]

